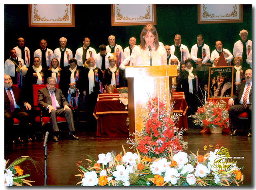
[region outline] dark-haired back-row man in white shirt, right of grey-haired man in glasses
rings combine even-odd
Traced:
[[[75,59],[77,60],[77,65],[83,66],[89,57],[95,58],[96,55],[96,50],[90,47],[90,39],[88,37],[84,37],[83,46],[76,50]]]

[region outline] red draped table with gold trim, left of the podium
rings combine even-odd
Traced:
[[[127,135],[129,127],[126,125],[128,118],[128,109],[120,100],[118,93],[100,94],[94,109],[94,117],[97,119],[97,136],[100,135]]]

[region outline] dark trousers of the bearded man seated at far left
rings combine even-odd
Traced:
[[[4,140],[6,143],[12,143],[17,137],[20,137],[22,140],[25,140],[25,137],[28,134],[28,113],[23,109],[16,108],[13,112],[10,110],[4,113]],[[14,118],[20,120],[20,125],[18,127],[13,126]],[[14,137],[12,139],[11,137]]]

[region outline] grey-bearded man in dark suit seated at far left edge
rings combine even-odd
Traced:
[[[5,144],[28,142],[28,113],[31,105],[24,101],[21,90],[12,86],[12,79],[4,75],[4,140]],[[20,120],[20,126],[14,129],[14,118]],[[14,134],[15,131],[15,134]],[[9,136],[9,137],[8,137]],[[10,137],[16,136],[13,140]],[[13,141],[12,141],[13,140]]]

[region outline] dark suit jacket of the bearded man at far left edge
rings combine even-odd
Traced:
[[[12,86],[12,92],[14,94],[16,104],[20,108],[23,108],[25,101],[23,101],[21,90],[18,87]],[[10,108],[10,100],[8,98],[6,90],[4,89],[4,113],[6,113],[6,111],[8,111],[9,108]]]

